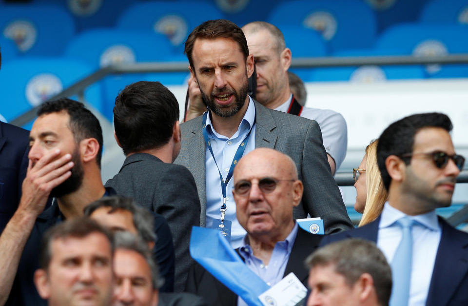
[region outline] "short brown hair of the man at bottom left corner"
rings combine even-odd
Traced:
[[[40,244],[39,267],[44,270],[49,267],[53,256],[51,247],[53,241],[68,237],[84,238],[92,233],[103,234],[114,253],[114,236],[109,230],[88,217],[74,218],[59,223],[45,232]]]

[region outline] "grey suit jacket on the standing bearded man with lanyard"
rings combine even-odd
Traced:
[[[289,155],[304,184],[302,202],[294,218],[321,217],[326,233],[352,228],[338,185],[331,176],[322,133],[316,121],[268,109],[255,103],[255,147],[267,147]],[[200,197],[200,225],[206,221],[205,141],[202,116],[180,125],[182,147],[175,163],[192,172]],[[245,153],[246,154],[246,153]]]

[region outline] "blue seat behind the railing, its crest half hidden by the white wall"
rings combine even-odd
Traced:
[[[384,56],[397,55],[398,51],[350,50],[336,52],[333,56]],[[350,81],[359,83],[385,82],[387,80],[424,79],[424,67],[420,65],[314,68],[310,75],[312,82]]]

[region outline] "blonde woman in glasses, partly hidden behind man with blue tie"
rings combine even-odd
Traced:
[[[370,142],[359,168],[352,169],[356,188],[354,209],[363,214],[358,226],[375,220],[388,197],[377,165],[377,143],[378,139]]]

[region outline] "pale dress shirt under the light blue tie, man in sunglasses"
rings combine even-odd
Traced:
[[[402,229],[395,222],[405,216],[408,215],[392,207],[388,202],[384,204],[380,217],[377,246],[382,250],[389,263],[393,260],[402,236]],[[442,230],[434,210],[426,214],[408,217],[415,221],[411,229],[413,259],[408,305],[424,306],[428,297]],[[393,280],[393,282],[398,282],[398,280]]]

